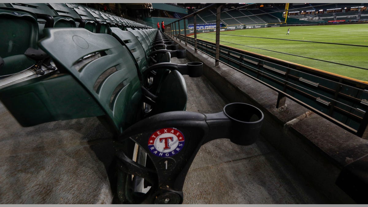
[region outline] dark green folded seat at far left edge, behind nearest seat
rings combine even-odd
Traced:
[[[35,60],[25,56],[28,48],[37,48],[38,22],[35,14],[16,8],[0,8],[0,57],[4,65],[0,76],[26,70]]]

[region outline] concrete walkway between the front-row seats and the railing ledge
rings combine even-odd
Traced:
[[[185,77],[185,81],[190,97],[187,110],[215,113],[228,103],[206,78]],[[183,192],[184,204],[329,203],[263,137],[250,146],[227,139],[204,144]]]

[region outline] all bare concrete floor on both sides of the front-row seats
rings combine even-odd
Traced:
[[[205,77],[184,78],[188,111],[215,113],[228,103]],[[111,141],[96,117],[21,127],[0,104],[0,203],[111,203]],[[329,203],[262,137],[250,146],[203,145],[183,191],[184,204]]]

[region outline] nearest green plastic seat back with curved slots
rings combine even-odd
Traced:
[[[86,88],[118,133],[137,121],[141,88],[134,60],[124,46],[113,36],[82,28],[48,28],[45,36],[40,48],[52,56],[60,71],[70,73]],[[94,53],[100,57],[77,67],[83,57]]]

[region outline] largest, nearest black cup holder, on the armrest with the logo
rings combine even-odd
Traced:
[[[231,142],[250,145],[256,141],[264,117],[261,110],[247,103],[230,103],[223,112],[231,120]]]

